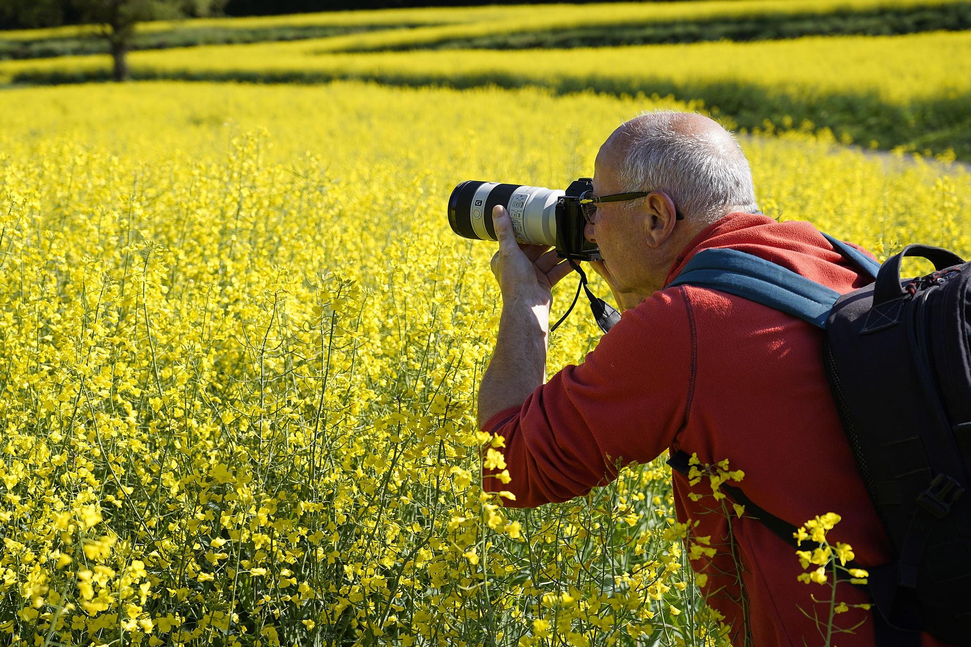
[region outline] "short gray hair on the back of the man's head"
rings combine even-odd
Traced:
[[[659,110],[626,123],[629,139],[619,172],[624,190],[664,191],[686,218],[704,224],[728,208],[758,210],[752,171],[735,138],[724,129],[686,132],[685,118]]]

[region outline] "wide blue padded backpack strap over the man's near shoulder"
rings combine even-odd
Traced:
[[[836,290],[737,249],[699,251],[667,287],[686,283],[774,307],[820,328],[840,298]]]

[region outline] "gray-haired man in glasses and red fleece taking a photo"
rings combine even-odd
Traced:
[[[863,566],[887,562],[887,536],[826,383],[820,330],[721,292],[665,288],[693,254],[711,247],[749,252],[840,293],[870,279],[810,223],[761,215],[740,146],[704,116],[648,113],[610,136],[596,157],[593,193],[632,191],[650,194],[601,203],[586,225],[603,255],[593,266],[614,293],[620,321],[583,364],[549,381],[551,288],[570,268],[546,247],[516,243],[508,214],[493,212],[499,251],[492,269],[503,310],[479,424],[505,437],[512,481],[502,484],[486,470],[485,488],[512,491],[517,499],[507,505],[566,501],[615,478],[616,460],[646,463],[683,450],[702,464],[728,459],[744,470],[748,497],[795,526],[838,513],[843,520],[830,540],[852,544]],[[679,521],[698,522],[693,534],[720,546],[692,566],[707,574],[702,588],[732,626],[733,642],[818,644],[816,623],[799,610],[814,607],[814,588],[797,581],[804,571],[793,549],[751,517],[729,526],[709,511],[710,497],[693,501],[688,495],[703,494],[708,479],[692,488],[682,474],[673,478]],[[849,584],[837,598],[868,601]],[[865,621],[854,634],[839,634],[842,647],[874,644],[868,611],[851,607],[839,621]]]

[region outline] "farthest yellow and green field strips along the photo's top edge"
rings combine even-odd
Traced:
[[[298,16],[157,21],[139,26],[134,49],[255,43],[350,35],[335,51],[632,45],[793,38],[812,34],[903,34],[965,29],[967,0],[714,0],[577,5],[422,8]],[[358,38],[362,32],[379,31]],[[106,51],[93,26],[0,32],[0,58]]]

